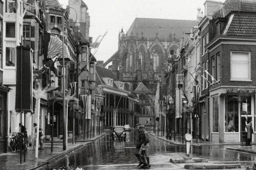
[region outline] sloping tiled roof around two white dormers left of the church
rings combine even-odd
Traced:
[[[97,73],[97,76],[98,76],[98,78],[96,78],[96,83],[97,84],[99,83],[99,84],[102,84],[102,85],[106,85],[104,83],[104,81],[102,80],[102,78],[111,78],[111,79],[113,79],[113,81],[118,81],[116,76],[109,69],[106,69],[106,68],[103,68],[103,67],[100,67],[100,66],[96,65],[95,70],[96,70],[96,73]],[[114,82],[113,82],[113,87],[117,88]]]

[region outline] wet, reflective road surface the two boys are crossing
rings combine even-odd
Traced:
[[[67,169],[70,166],[82,167],[84,170],[138,169],[133,138],[133,132],[127,132],[126,141],[112,141],[111,134],[107,134],[39,170],[52,170],[58,167]],[[172,164],[169,160],[170,157],[185,156],[185,146],[171,145],[152,135],[149,135],[149,139],[151,169],[183,169],[184,165]],[[192,146],[191,151],[193,157],[206,158],[209,162],[239,162],[251,165],[256,161],[255,154],[226,150],[226,147],[230,145]]]

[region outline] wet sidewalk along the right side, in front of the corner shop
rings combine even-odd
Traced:
[[[150,134],[152,136],[155,136],[156,138],[158,139],[161,139],[163,141],[166,141],[170,144],[174,144],[174,145],[186,145],[185,144],[185,139],[184,139],[184,143],[182,143],[182,136],[181,136],[181,141],[179,141],[179,136],[176,135],[176,140],[174,141],[173,139],[172,140],[167,140],[165,136],[159,136],[159,135],[156,135],[155,133],[153,132],[150,132]],[[252,142],[251,144],[256,144],[255,142]],[[191,141],[191,145],[241,145],[240,142],[209,142],[209,141],[201,141],[201,140],[198,140],[198,143],[196,143],[196,140],[195,139],[192,139]],[[245,145],[245,143],[244,143]],[[255,154],[256,154],[256,148],[255,148]]]

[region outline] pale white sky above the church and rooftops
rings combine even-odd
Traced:
[[[216,0],[224,2],[224,0]],[[59,0],[61,5],[68,5],[68,0]],[[97,60],[106,61],[118,50],[118,33],[123,27],[129,29],[136,16],[138,18],[161,18],[196,20],[197,8],[205,0],[84,0],[90,15],[89,36],[93,41],[99,35],[107,35],[102,40],[94,55]],[[191,28],[192,29],[192,28]]]

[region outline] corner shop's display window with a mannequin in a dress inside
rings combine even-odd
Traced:
[[[225,96],[225,132],[239,132],[238,96]]]

